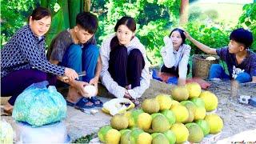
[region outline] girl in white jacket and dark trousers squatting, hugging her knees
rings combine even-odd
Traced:
[[[134,102],[150,86],[146,49],[135,36],[134,18],[122,17],[100,49],[100,78],[106,89],[117,98]],[[135,103],[136,104],[136,103]]]

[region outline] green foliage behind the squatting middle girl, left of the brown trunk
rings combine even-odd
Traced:
[[[105,4],[102,7],[102,4]],[[92,10],[98,14],[98,43],[108,34],[114,33],[114,26],[119,18],[130,15],[137,25],[137,37],[146,46],[151,65],[157,65],[162,58],[159,53],[163,45],[162,38],[170,33],[170,26],[178,23],[180,0],[108,0],[98,4],[93,1]]]

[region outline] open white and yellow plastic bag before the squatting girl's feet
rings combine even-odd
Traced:
[[[126,110],[134,108],[134,103],[127,98],[114,98],[109,102],[105,102],[102,107],[102,111],[106,114],[123,114]]]

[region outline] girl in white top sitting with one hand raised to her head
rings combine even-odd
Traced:
[[[186,84],[186,75],[190,72],[189,58],[191,47],[185,44],[184,30],[175,28],[169,37],[164,38],[165,45],[161,55],[163,66],[161,72],[174,74],[178,77],[178,85]]]

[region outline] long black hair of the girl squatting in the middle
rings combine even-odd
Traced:
[[[118,31],[118,27],[120,25],[127,26],[128,29],[131,30],[132,32],[135,32],[135,30],[136,30],[136,22],[135,22],[134,18],[131,18],[129,16],[124,16],[118,20],[117,24],[114,26],[114,32]],[[120,46],[120,43],[118,41],[118,37],[114,36],[114,38],[112,38],[112,40],[110,42],[110,48],[111,48],[111,50],[114,50],[114,48],[117,46]]]

